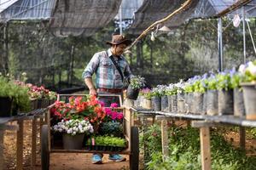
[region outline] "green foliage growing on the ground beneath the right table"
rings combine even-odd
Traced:
[[[158,125],[149,127],[146,134],[155,132],[160,135]],[[166,157],[166,161],[162,161],[161,143],[157,136],[152,141],[150,141],[149,135],[141,140],[148,147],[148,157],[145,160],[146,169],[201,169],[199,130],[192,127],[172,126],[169,129],[169,134],[171,134],[169,138],[170,156]],[[215,131],[211,132],[211,151],[212,169],[255,169],[255,157],[247,157],[245,152],[234,149],[230,143],[225,141],[222,134]]]

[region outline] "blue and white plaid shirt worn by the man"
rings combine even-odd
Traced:
[[[96,73],[96,88],[122,89],[124,83],[122,82],[119,71],[109,58],[111,55],[113,54],[110,48],[107,53],[106,51],[102,51],[94,54],[89,64],[84,69],[82,77],[91,78],[92,75]],[[124,77],[130,79],[132,77],[131,70],[125,57],[121,55],[118,59],[115,59],[115,61],[119,65]]]

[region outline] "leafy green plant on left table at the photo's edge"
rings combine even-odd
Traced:
[[[20,111],[30,111],[28,88],[20,87],[3,76],[0,76],[0,87],[0,97],[13,99]]]

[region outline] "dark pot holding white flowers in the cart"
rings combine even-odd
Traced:
[[[83,146],[84,134],[70,135],[63,133],[64,150],[81,150]]]

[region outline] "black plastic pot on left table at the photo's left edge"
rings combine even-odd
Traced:
[[[0,97],[0,116],[13,116],[12,105],[12,99],[9,99],[9,97]]]

